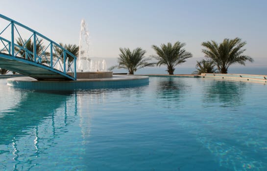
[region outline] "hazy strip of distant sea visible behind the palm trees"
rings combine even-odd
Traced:
[[[187,67],[176,67],[174,74],[192,74],[196,69]],[[114,69],[113,73],[127,73],[125,69]],[[229,67],[228,73],[231,74],[254,74],[267,75],[267,67]],[[168,74],[166,67],[146,67],[138,69],[135,74]]]

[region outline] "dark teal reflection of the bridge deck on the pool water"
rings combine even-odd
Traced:
[[[1,113],[0,143],[9,144],[12,138],[23,136],[27,133],[25,129],[38,125],[66,100],[64,95],[26,92],[17,106]]]

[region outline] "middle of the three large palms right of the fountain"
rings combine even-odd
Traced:
[[[173,75],[175,70],[174,66],[186,62],[187,58],[192,58],[193,55],[190,52],[187,52],[183,46],[185,43],[180,43],[177,41],[172,44],[161,44],[160,47],[152,45],[152,48],[156,51],[158,56],[153,56],[158,60],[157,66],[162,64],[167,65],[167,71],[170,75]]]

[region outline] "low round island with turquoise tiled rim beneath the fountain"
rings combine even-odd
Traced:
[[[97,88],[125,88],[149,84],[149,77],[138,75],[113,75],[112,72],[80,72],[75,81],[45,80],[31,77],[7,79],[7,85],[14,88],[31,90],[69,91]]]

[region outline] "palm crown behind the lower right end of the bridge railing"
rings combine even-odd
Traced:
[[[71,52],[74,56],[78,56],[79,54],[79,46],[77,46],[76,44],[65,44],[63,45],[63,43],[59,43],[59,45],[61,45],[64,49],[68,50],[69,52]],[[59,47],[55,47],[55,51],[58,53],[58,55],[61,55],[63,53],[63,50]],[[67,59],[69,60],[69,63],[71,63],[73,61],[73,57],[69,54],[67,54]],[[63,56],[61,58],[61,60],[63,61]]]

